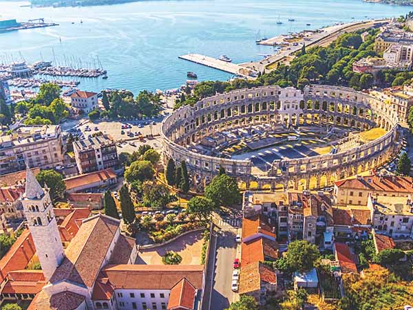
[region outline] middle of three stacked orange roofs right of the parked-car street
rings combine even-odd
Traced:
[[[278,243],[267,238],[257,238],[242,242],[241,265],[246,266],[252,262],[264,262],[265,256],[278,258]]]

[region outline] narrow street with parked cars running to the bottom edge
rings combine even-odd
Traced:
[[[240,258],[240,246],[235,242],[235,236],[240,234],[241,223],[240,219],[235,217],[220,218],[214,216],[214,223],[218,227],[216,233],[216,252],[215,257],[209,258],[209,269],[207,274],[207,285],[212,290],[206,289],[205,293],[210,294],[211,300],[203,304],[204,310],[222,310],[229,307],[229,305],[237,301],[239,296],[237,293],[231,291],[233,261],[235,257]],[[212,267],[212,268],[211,268]]]

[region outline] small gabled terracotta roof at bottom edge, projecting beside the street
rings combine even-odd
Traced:
[[[193,309],[196,289],[187,278],[183,278],[171,288],[169,293],[168,310]]]

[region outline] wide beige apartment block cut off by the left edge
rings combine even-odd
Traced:
[[[52,169],[63,165],[65,150],[59,125],[21,126],[0,136],[0,174],[25,168]]]

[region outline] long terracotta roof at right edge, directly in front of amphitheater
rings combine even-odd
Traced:
[[[368,189],[375,192],[413,193],[413,180],[410,176],[357,176],[339,180],[339,188]]]

